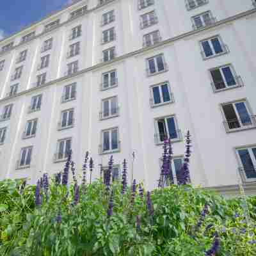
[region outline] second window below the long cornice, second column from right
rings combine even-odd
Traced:
[[[152,107],[173,102],[170,86],[167,82],[151,86],[151,94],[150,105]]]

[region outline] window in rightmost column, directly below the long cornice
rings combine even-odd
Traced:
[[[221,43],[220,36],[214,36],[200,42],[202,47],[202,56],[204,59],[228,52],[227,45]]]

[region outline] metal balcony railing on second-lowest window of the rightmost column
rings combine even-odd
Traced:
[[[237,132],[247,129],[256,128],[256,116],[248,116],[247,118],[236,118],[223,122],[226,132]]]

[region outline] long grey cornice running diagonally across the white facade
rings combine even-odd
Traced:
[[[108,3],[105,3],[105,4],[109,4],[109,3],[113,2],[113,1],[116,1],[116,0],[110,0],[110,1],[108,1]],[[102,5],[100,5],[100,7],[101,6]],[[97,8],[99,8],[99,7],[97,7]],[[204,27],[204,28],[200,28],[200,29],[196,29],[196,30],[193,30],[193,31],[189,31],[189,32],[184,33],[184,34],[179,35],[179,36],[174,36],[173,38],[169,38],[167,40],[159,42],[156,45],[152,45],[150,47],[144,47],[144,48],[138,49],[137,51],[129,52],[129,53],[124,54],[122,56],[118,56],[118,57],[116,57],[112,61],[102,62],[102,63],[98,63],[96,65],[93,65],[92,67],[84,68],[83,70],[80,70],[79,72],[77,72],[76,74],[72,74],[71,76],[64,76],[64,77],[60,77],[58,79],[54,79],[52,81],[49,81],[48,83],[45,83],[44,86],[39,86],[39,87],[35,87],[35,88],[29,88],[28,90],[24,90],[23,92],[17,93],[16,95],[13,95],[12,97],[6,97],[6,98],[3,98],[3,99],[0,99],[0,103],[1,102],[6,102],[6,101],[9,101],[9,100],[12,100],[12,99],[15,99],[17,97],[20,97],[20,96],[26,94],[26,93],[30,93],[30,92],[35,92],[37,90],[41,90],[42,88],[45,88],[47,86],[51,86],[52,84],[60,83],[62,81],[67,81],[70,78],[81,76],[82,74],[84,74],[86,72],[95,71],[95,70],[98,70],[98,69],[100,69],[102,67],[106,67],[108,65],[111,65],[113,63],[118,63],[120,61],[125,60],[126,58],[129,58],[129,57],[132,57],[132,56],[136,56],[136,55],[139,55],[139,54],[143,54],[145,52],[149,52],[149,51],[152,51],[154,49],[159,49],[159,48],[163,47],[164,45],[172,44],[173,42],[177,42],[179,40],[183,40],[184,38],[187,38],[189,36],[198,35],[202,31],[207,31],[207,30],[210,30],[212,28],[216,28],[218,26],[222,26],[224,24],[228,24],[229,22],[232,22],[232,21],[237,20],[237,19],[243,19],[244,17],[248,17],[249,15],[252,15],[254,13],[256,13],[256,9],[248,10],[246,12],[239,13],[239,14],[234,15],[232,17],[228,17],[227,19],[215,22],[214,24],[212,24],[210,26],[207,26],[207,27]]]

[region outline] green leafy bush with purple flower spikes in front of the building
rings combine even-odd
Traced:
[[[169,153],[165,161],[172,161]],[[122,180],[110,184],[112,157],[104,182],[87,184],[87,162],[88,154],[81,185],[71,154],[51,182],[46,174],[36,186],[0,182],[0,255],[256,255],[255,197],[227,200],[186,182],[174,185],[166,163],[151,193],[135,180],[127,186],[126,161]]]

